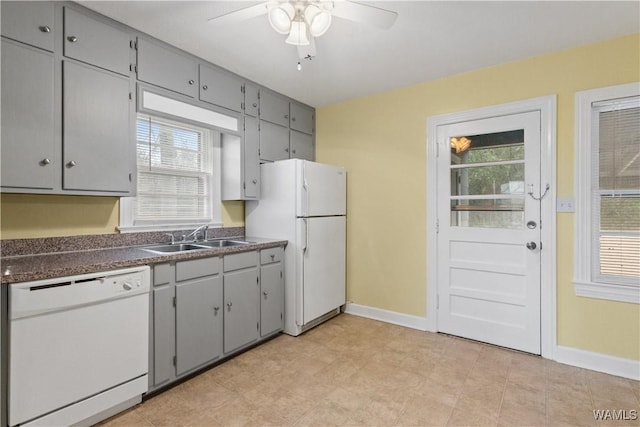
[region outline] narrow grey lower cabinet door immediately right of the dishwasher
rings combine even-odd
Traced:
[[[170,286],[153,288],[153,377],[154,387],[175,377],[175,311],[174,290]]]

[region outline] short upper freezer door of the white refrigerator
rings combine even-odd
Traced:
[[[338,166],[300,160],[298,217],[345,215],[347,172]]]

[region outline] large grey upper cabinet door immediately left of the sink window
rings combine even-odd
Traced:
[[[63,74],[64,188],[132,191],[129,79],[69,61]]]

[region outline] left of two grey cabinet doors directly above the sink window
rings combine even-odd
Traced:
[[[138,80],[195,98],[197,79],[195,59],[138,38]]]

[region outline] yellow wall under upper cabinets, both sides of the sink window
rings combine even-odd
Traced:
[[[118,201],[117,197],[2,194],[0,238],[115,233]],[[224,202],[222,223],[225,227],[243,227],[244,202]]]

